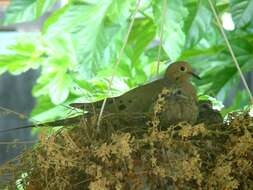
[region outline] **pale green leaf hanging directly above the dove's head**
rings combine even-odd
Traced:
[[[164,0],[154,0],[153,11],[155,20],[159,31],[161,30],[161,18],[163,17],[163,6],[165,7],[165,21],[163,26],[164,38],[163,38],[163,48],[169,55],[171,60],[176,60],[182,53],[183,47],[185,45],[185,33],[183,31],[184,22],[186,16],[188,15],[188,10],[183,4],[183,0],[178,1],[167,1]]]

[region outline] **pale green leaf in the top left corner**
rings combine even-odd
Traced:
[[[57,0],[12,0],[5,12],[4,25],[38,19]]]

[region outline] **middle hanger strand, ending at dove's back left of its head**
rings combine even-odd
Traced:
[[[161,59],[161,51],[162,51],[162,44],[163,44],[163,26],[165,22],[165,14],[166,14],[166,7],[167,7],[167,0],[163,0],[163,12],[162,12],[162,18],[161,18],[161,25],[160,25],[160,43],[158,48],[158,55],[157,55],[157,68],[156,68],[156,74],[159,74],[160,69],[160,59]]]

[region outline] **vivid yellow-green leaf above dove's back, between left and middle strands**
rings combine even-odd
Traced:
[[[116,77],[121,77],[132,88],[147,80],[145,67],[150,64],[145,59],[145,50],[152,43],[156,34],[153,19],[148,17],[136,18],[130,32],[124,56],[114,72]],[[105,67],[99,71],[100,77],[109,77],[113,72],[112,67]],[[150,73],[149,73],[150,74]]]

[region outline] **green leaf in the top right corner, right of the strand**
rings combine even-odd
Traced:
[[[230,8],[237,28],[243,28],[252,23],[253,0],[231,0]]]

